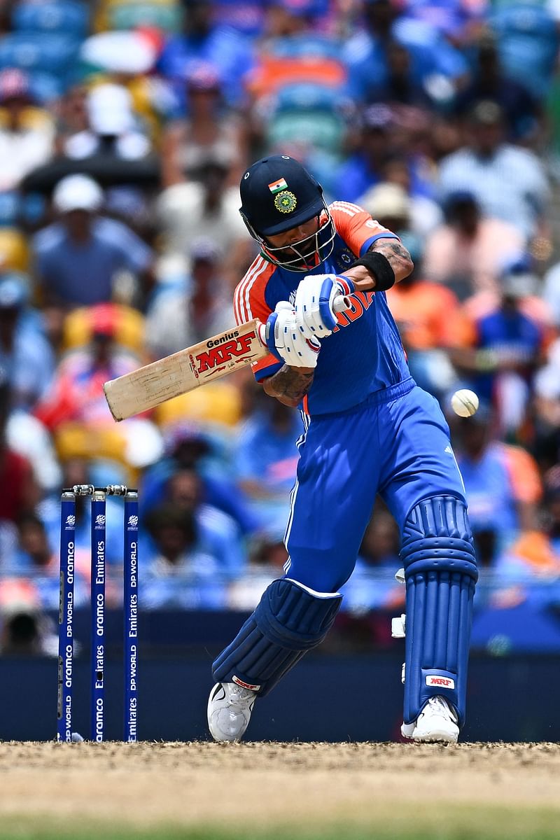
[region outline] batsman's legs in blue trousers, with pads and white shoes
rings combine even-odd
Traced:
[[[208,722],[243,736],[269,692],[334,622],[379,492],[400,526],[406,578],[403,735],[456,741],[465,717],[476,562],[463,482],[437,402],[400,382],[313,417],[301,444],[285,578],[275,580],[213,664]]]

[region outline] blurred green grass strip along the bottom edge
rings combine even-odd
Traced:
[[[63,807],[62,803],[61,806]],[[560,811],[403,803],[398,813],[373,806],[375,816],[353,815],[353,822],[321,827],[189,827],[139,828],[38,816],[3,816],[0,840],[558,840]]]

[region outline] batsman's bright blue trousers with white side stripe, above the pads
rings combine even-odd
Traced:
[[[352,574],[378,492],[400,530],[422,499],[465,501],[445,417],[412,378],[348,411],[305,419],[285,535],[293,580],[338,591]]]

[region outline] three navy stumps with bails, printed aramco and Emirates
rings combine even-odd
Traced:
[[[138,722],[138,492],[124,485],[75,485],[62,491],[60,506],[60,608],[56,740],[82,740],[72,731],[74,667],[74,580],[76,560],[76,497],[92,502],[92,653],[91,735],[101,743],[105,735],[105,546],[107,496],[124,500],[123,552],[123,741],[137,740]]]

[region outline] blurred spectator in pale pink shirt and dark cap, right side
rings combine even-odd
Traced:
[[[478,291],[495,291],[505,260],[523,249],[521,232],[509,222],[483,216],[470,191],[451,192],[445,214],[445,223],[427,238],[426,276],[451,286],[463,300]]]

